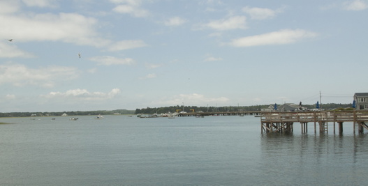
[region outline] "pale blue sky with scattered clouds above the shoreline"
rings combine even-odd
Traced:
[[[0,0],[0,112],[351,103],[368,0]]]

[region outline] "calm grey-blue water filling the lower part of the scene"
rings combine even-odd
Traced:
[[[260,118],[0,118],[0,185],[367,185],[368,137]],[[358,130],[357,130],[358,132]],[[368,133],[368,132],[366,132]]]

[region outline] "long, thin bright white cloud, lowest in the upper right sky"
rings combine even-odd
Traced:
[[[257,36],[248,36],[244,38],[237,38],[230,42],[234,47],[251,47],[260,45],[284,45],[297,42],[304,38],[314,38],[318,34],[311,31],[304,31],[302,29],[290,30],[285,29],[281,31],[274,31]]]

